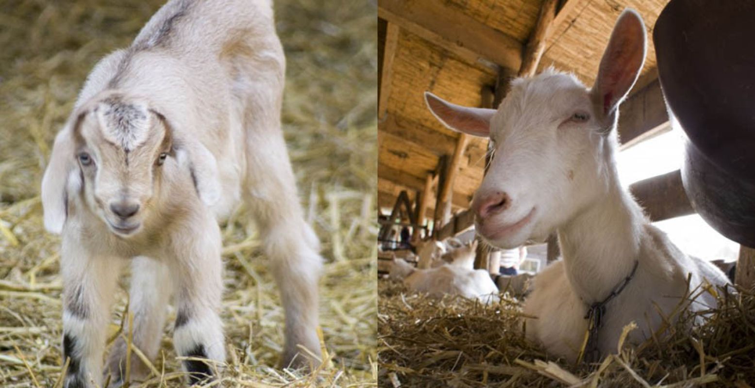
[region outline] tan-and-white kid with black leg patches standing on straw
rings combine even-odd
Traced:
[[[241,197],[282,294],[282,365],[299,345],[320,354],[322,259],[280,129],[284,73],[269,0],[173,0],[94,67],[42,181],[45,226],[63,238],[66,387],[101,386],[109,307],[129,258],[134,345],[156,356],[174,294],[177,354],[223,361],[216,219]],[[125,355],[119,340],[112,381],[122,383]],[[194,383],[211,364],[183,367]],[[136,356],[131,365],[131,377],[149,372]]]

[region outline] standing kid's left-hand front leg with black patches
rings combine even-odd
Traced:
[[[94,256],[63,239],[63,362],[65,388],[102,386],[105,334],[122,259]]]

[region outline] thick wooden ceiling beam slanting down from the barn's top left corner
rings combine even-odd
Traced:
[[[522,44],[437,0],[381,0],[377,16],[471,63],[496,63],[510,69],[522,65]]]

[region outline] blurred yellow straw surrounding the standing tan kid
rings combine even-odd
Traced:
[[[42,229],[39,182],[85,75],[128,45],[160,3],[0,5],[0,386],[54,386],[60,377],[60,240]],[[228,366],[220,386],[374,386],[374,14],[368,2],[276,1],[288,57],[285,135],[327,261],[320,315],[331,362],[312,374],[270,368],[283,342],[282,309],[240,210],[222,225]],[[112,334],[126,303],[122,290]],[[171,309],[169,322],[173,317]],[[171,326],[152,379],[132,386],[181,385]]]

